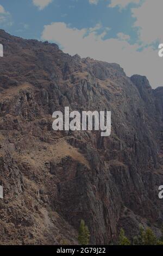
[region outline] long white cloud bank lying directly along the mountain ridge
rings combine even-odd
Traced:
[[[96,27],[99,29],[100,26]],[[98,34],[93,28],[77,29],[67,26],[64,22],[54,22],[44,27],[42,39],[57,42],[64,52],[71,55],[78,53],[83,58],[91,57],[118,63],[128,76],[147,76],[153,87],[163,84],[163,60],[158,57],[158,50],[148,47],[140,52],[140,45],[129,44],[129,36],[123,33],[118,33],[116,39],[104,39],[106,31]]]

